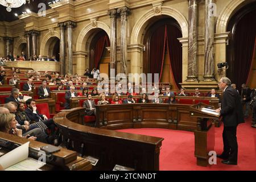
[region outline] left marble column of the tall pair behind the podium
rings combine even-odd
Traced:
[[[188,76],[186,81],[197,81],[197,0],[188,0]]]

